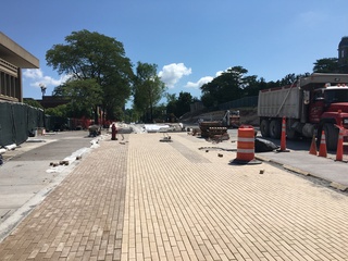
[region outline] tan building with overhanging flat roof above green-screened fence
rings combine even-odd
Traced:
[[[22,69],[38,69],[39,60],[0,32],[0,101],[23,102]]]

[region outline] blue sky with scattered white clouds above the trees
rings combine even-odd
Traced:
[[[51,95],[65,79],[45,55],[76,30],[115,38],[134,69],[154,63],[167,92],[197,98],[231,66],[268,82],[311,73],[318,59],[337,57],[348,35],[347,0],[13,0],[5,10],[0,30],[40,61],[23,72],[24,97],[35,99],[39,84]]]

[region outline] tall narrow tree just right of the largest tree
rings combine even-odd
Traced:
[[[153,121],[153,108],[164,95],[164,83],[157,75],[157,65],[138,62],[134,80],[134,105],[147,121]]]

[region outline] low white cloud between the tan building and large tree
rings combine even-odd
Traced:
[[[61,76],[59,79],[55,79],[51,76],[45,76],[40,69],[27,69],[23,72],[24,79],[32,80],[30,86],[38,87],[40,84],[45,86],[53,86],[57,87],[66,82],[70,78],[67,75]]]

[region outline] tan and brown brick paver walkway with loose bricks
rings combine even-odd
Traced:
[[[171,136],[102,141],[0,244],[0,260],[348,260],[347,196]]]

